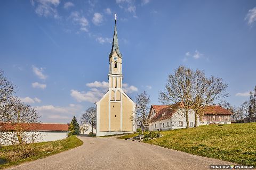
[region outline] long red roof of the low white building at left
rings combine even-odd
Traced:
[[[14,131],[18,125],[26,131],[68,131],[68,124],[54,123],[0,123],[0,131]]]

